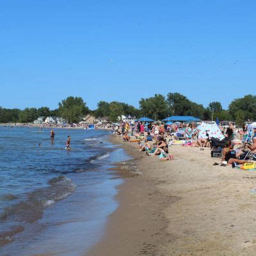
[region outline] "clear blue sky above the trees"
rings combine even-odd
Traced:
[[[0,106],[254,93],[255,1],[3,1]]]

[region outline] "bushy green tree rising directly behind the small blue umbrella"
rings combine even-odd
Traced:
[[[153,119],[163,119],[168,115],[168,106],[165,97],[161,94],[155,94],[154,97],[140,100],[141,115]]]

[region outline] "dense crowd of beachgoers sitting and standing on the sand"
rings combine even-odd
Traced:
[[[169,152],[170,141],[173,140],[184,140],[185,142],[181,145],[186,147],[198,147],[200,150],[204,150],[206,147],[214,149],[209,134],[207,134],[207,138],[198,138],[200,132],[198,128],[199,126],[195,122],[190,124],[156,123],[147,125],[138,122],[136,124],[122,123],[115,125],[112,133],[122,136],[124,143],[138,143],[138,150],[145,152],[147,156],[159,156],[159,159],[164,161],[171,160],[174,157]],[[225,138],[221,145],[222,147],[218,147],[218,150],[220,150],[218,156],[221,157],[221,166],[230,164],[234,168],[239,164],[252,161],[252,159],[244,157],[248,150],[253,154],[255,153],[256,157],[256,127],[253,128],[250,125],[244,124],[243,127],[237,128],[230,122],[226,127],[219,124],[218,128]],[[182,131],[182,136],[180,136],[180,131]],[[246,134],[251,139],[243,141],[243,137]],[[241,141],[241,147],[237,147],[239,145],[237,141]],[[214,165],[218,164],[214,163]]]

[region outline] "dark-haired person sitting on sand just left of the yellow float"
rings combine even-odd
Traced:
[[[242,150],[234,150],[234,144],[231,141],[228,141],[225,145],[225,148],[222,150],[222,161],[227,161],[228,164],[244,164],[248,161],[241,160],[238,157],[243,154]]]

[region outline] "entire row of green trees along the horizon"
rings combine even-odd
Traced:
[[[181,93],[168,93],[166,96],[155,94],[149,98],[141,98],[139,108],[135,108],[124,102],[100,101],[97,109],[90,110],[81,97],[67,97],[61,100],[57,109],[51,110],[48,107],[6,109],[0,107],[0,123],[8,122],[33,122],[39,116],[61,116],[69,123],[79,122],[88,113],[95,117],[108,116],[112,122],[118,121],[118,116],[147,116],[154,120],[161,120],[172,115],[189,115],[201,118],[202,120],[233,120],[241,124],[248,120],[256,120],[256,96],[245,95],[242,98],[234,99],[228,109],[223,109],[220,102],[210,102],[205,108],[189,100]]]

